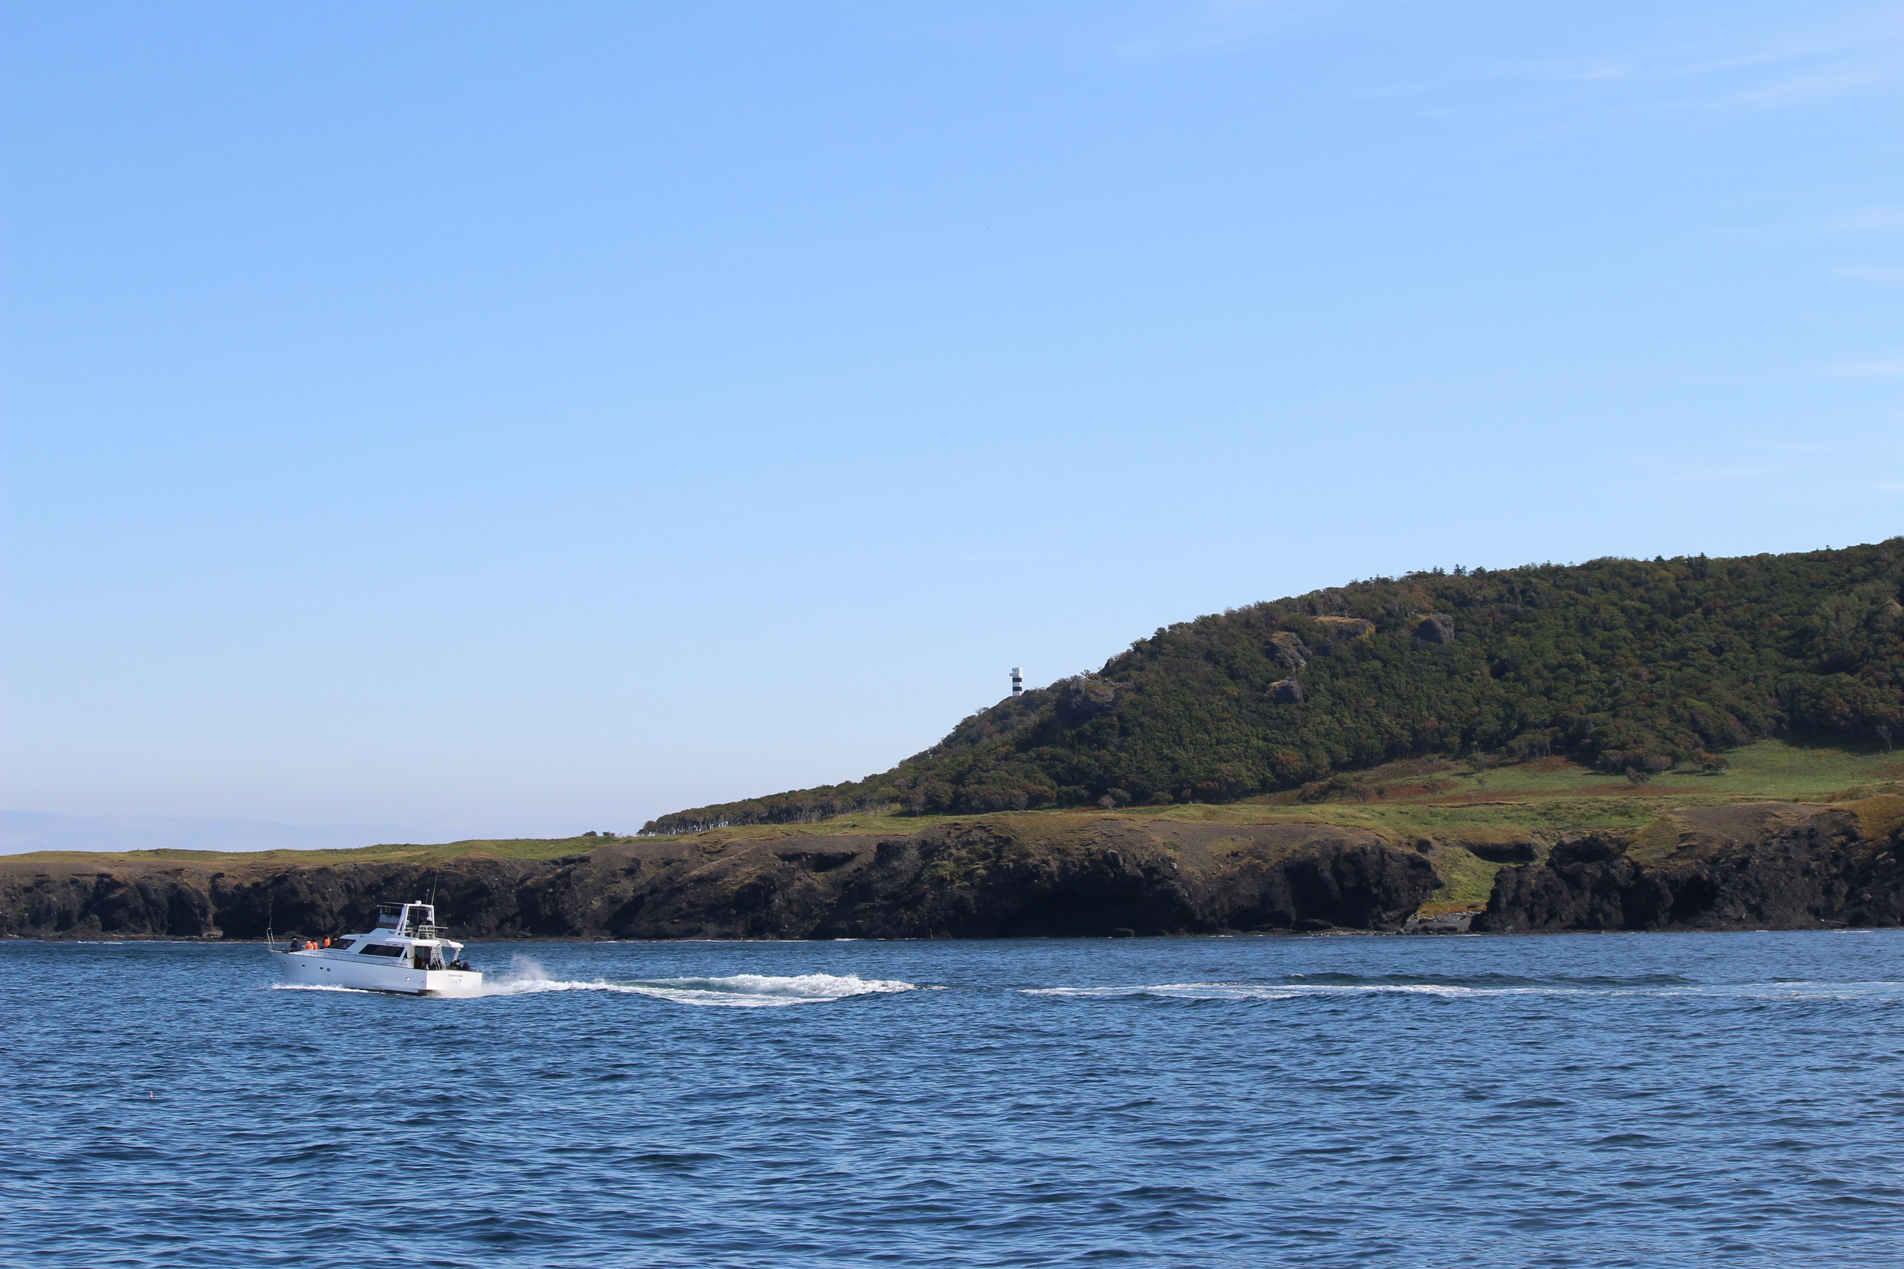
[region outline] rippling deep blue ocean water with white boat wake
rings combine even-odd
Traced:
[[[1904,934],[0,944],[0,1263],[1898,1265]]]

